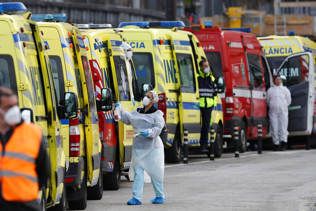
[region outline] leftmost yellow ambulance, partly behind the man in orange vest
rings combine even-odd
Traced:
[[[31,16],[22,3],[3,3],[2,9],[0,5],[0,81],[17,93],[24,121],[43,129],[51,177],[47,189],[40,187],[41,206],[66,210],[66,157],[60,122],[64,115],[58,115],[60,108],[46,45],[36,22],[29,19]]]

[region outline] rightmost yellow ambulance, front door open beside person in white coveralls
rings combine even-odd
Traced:
[[[311,144],[316,145],[316,43],[306,37],[295,35],[289,31],[287,36],[271,35],[257,37],[263,47],[272,75],[279,74],[292,97],[289,106],[289,136],[306,136]],[[305,53],[304,53],[305,52]],[[313,53],[313,61],[309,61],[306,52]],[[295,53],[301,53],[278,67],[283,59]],[[314,68],[311,68],[311,64]],[[314,77],[311,77],[314,76]],[[305,141],[305,139],[300,139]]]

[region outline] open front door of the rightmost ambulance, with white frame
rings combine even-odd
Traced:
[[[290,135],[310,134],[315,102],[313,54],[302,52],[289,55],[276,73],[280,73],[283,85],[291,92],[288,126]]]

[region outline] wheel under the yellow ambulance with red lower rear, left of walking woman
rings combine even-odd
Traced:
[[[119,154],[117,154],[119,155]],[[104,190],[118,190],[121,185],[121,166],[117,158],[114,163],[113,171],[103,174],[103,189]]]

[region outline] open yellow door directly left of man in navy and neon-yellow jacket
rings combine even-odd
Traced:
[[[178,40],[172,34],[171,47],[173,58],[177,70],[177,78],[179,85],[179,117],[180,117],[180,134],[183,140],[183,129],[188,130],[189,144],[198,144],[201,132],[200,124],[200,103],[197,91],[197,76],[194,64],[194,55],[190,40],[186,34],[181,36],[182,40]]]

